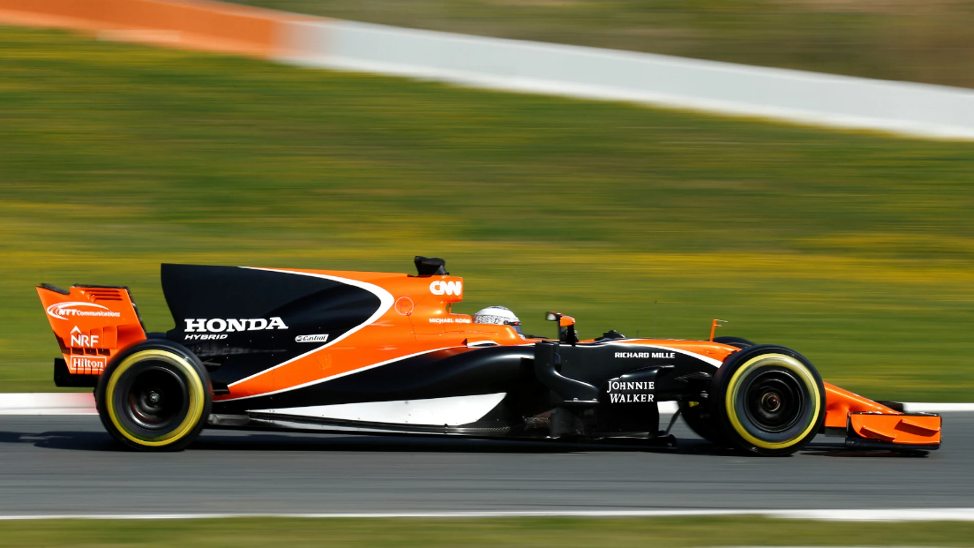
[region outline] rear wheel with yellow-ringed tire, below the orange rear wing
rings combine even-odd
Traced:
[[[186,347],[150,339],[119,353],[95,389],[98,416],[125,446],[179,451],[200,435],[212,406],[209,375]]]

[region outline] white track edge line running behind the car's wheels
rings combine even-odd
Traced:
[[[911,413],[970,413],[974,403],[904,403]],[[673,415],[676,402],[659,402],[659,413]],[[97,415],[92,392],[0,393],[0,415]]]

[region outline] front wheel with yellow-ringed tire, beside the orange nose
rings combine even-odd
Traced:
[[[825,387],[804,356],[762,345],[734,352],[717,370],[712,405],[731,444],[783,457],[800,451],[825,420]]]

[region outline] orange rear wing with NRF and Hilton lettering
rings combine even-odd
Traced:
[[[61,289],[44,283],[37,286],[37,295],[63,356],[61,363],[55,361],[58,385],[86,385],[77,379],[58,379],[58,372],[61,377],[66,373],[95,380],[120,349],[145,339],[128,287],[72,285]]]

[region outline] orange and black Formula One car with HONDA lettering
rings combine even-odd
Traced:
[[[791,455],[819,432],[854,448],[940,446],[939,416],[824,384],[794,350],[713,330],[580,341],[556,312],[557,338],[522,335],[512,313],[453,313],[463,278],[441,259],[415,263],[416,275],[163,265],[166,333],[145,332],[127,287],[44,284],[55,382],[95,387],[105,428],[151,451],[205,427],[674,446],[661,401],[703,438],[759,455]]]

